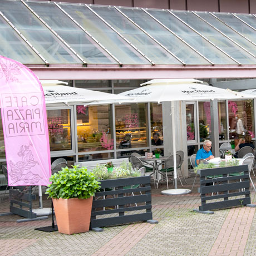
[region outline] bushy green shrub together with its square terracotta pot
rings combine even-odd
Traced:
[[[95,175],[75,165],[53,174],[50,181],[46,194],[53,201],[58,231],[69,235],[87,232],[93,195],[100,189]]]

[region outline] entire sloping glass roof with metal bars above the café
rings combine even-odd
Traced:
[[[1,0],[0,38],[25,65],[256,65],[254,14]]]

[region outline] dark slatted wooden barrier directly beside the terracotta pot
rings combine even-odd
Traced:
[[[93,198],[91,228],[151,220],[150,179],[141,176],[101,180],[104,191],[97,192]]]

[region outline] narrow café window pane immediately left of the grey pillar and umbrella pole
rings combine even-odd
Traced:
[[[163,140],[163,114],[162,104],[150,104],[150,122],[151,122],[151,145],[162,146]]]

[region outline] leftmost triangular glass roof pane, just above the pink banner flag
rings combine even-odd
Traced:
[[[45,64],[20,36],[0,17],[0,55],[23,64]]]

